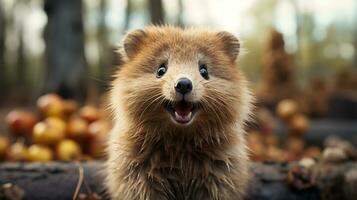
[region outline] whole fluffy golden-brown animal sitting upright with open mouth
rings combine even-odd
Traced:
[[[149,26],[123,40],[106,185],[116,200],[239,200],[252,97],[228,32]]]

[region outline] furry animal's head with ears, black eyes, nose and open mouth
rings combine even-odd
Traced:
[[[138,123],[219,126],[236,119],[245,85],[231,34],[149,27],[129,33],[123,47],[127,60],[112,104],[121,99]]]

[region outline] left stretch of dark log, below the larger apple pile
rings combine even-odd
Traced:
[[[84,180],[98,194],[105,196],[100,162],[81,163]],[[7,163],[0,165],[0,185],[11,183],[24,191],[24,199],[72,199],[79,177],[74,163]],[[81,192],[85,192],[82,185]],[[1,195],[0,195],[1,199]]]

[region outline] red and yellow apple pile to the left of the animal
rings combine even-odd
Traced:
[[[6,124],[15,142],[0,135],[0,161],[88,160],[104,156],[110,124],[95,106],[46,94],[37,100],[39,114],[13,110]]]

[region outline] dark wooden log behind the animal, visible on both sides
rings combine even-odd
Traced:
[[[84,169],[81,192],[86,192],[87,184],[93,192],[108,199],[103,187],[102,164],[98,161],[80,164]],[[356,162],[315,165],[312,178],[303,182],[307,185],[304,189],[288,184],[288,172],[292,166],[295,164],[254,163],[247,200],[352,200],[357,197]],[[18,187],[18,190],[24,191],[24,199],[72,199],[78,177],[79,168],[75,163],[0,165],[0,185],[11,183]],[[293,182],[298,183],[298,180]],[[0,190],[0,199],[1,191],[4,189]]]

